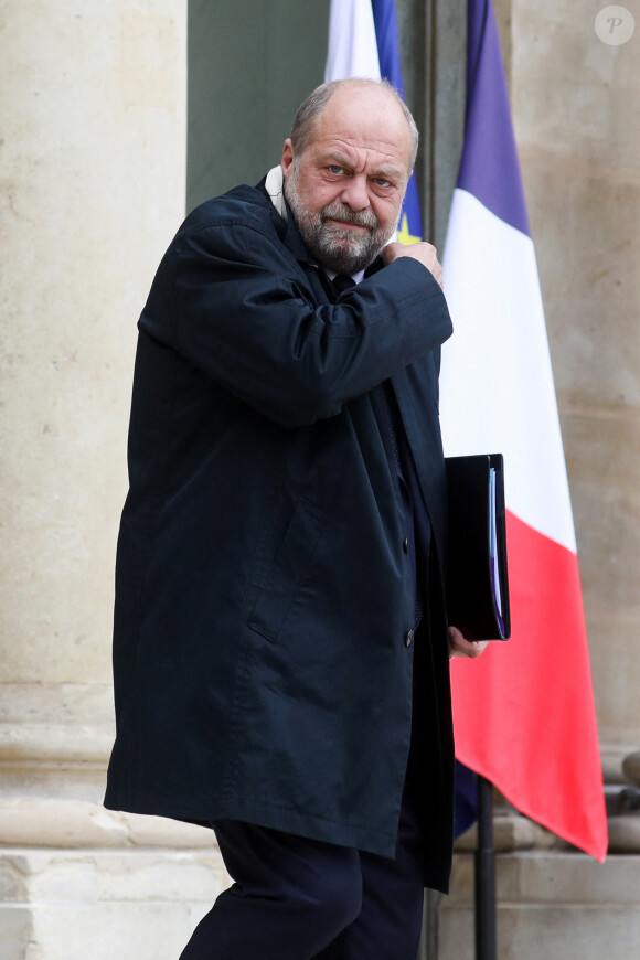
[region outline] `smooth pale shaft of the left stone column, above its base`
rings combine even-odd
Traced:
[[[135,324],[184,210],[185,11],[2,4],[4,682],[109,680]]]

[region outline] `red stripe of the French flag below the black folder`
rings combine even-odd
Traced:
[[[577,557],[509,512],[506,533],[512,639],[489,644],[476,662],[454,661],[456,754],[523,813],[602,861]]]

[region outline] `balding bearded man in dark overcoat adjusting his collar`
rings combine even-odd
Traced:
[[[140,318],[105,802],[213,825],[235,884],[184,960],[415,960],[448,885],[480,648],[442,609],[441,269],[387,245],[416,147],[391,87],[320,87]]]

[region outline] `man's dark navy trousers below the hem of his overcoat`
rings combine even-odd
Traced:
[[[216,821],[235,883],[180,960],[416,960],[424,887],[414,764],[412,749],[395,860]]]

